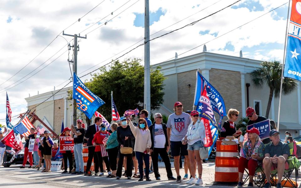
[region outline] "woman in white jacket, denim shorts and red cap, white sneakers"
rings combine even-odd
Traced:
[[[187,134],[182,140],[182,144],[188,144],[188,157],[190,160],[190,170],[192,178],[188,180],[187,184],[196,184],[202,185],[202,159],[200,157],[200,148],[204,147],[205,139],[205,127],[203,121],[199,120],[198,111],[193,110],[191,112],[192,122],[188,126]],[[198,165],[198,180],[195,178],[196,168],[195,168],[195,160],[197,161]]]

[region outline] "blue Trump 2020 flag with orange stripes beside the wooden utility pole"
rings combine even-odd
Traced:
[[[73,73],[73,99],[76,99],[77,108],[84,112],[91,119],[94,112],[105,102],[98,96],[94,95],[82,81]]]

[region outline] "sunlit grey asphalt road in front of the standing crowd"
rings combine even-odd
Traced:
[[[156,181],[154,174],[150,174],[150,179],[153,181],[142,181],[138,182],[137,178],[127,180],[122,177],[120,180],[113,178],[107,178],[105,176],[83,176],[83,175],[70,175],[70,174],[61,174],[61,172],[51,172],[51,173],[41,173],[35,169],[19,169],[19,165],[13,165],[9,168],[0,167],[1,181],[0,187],[5,188],[30,188],[37,186],[47,186],[47,188],[57,188],[57,187],[107,187],[107,188],[116,188],[116,187],[141,187],[141,188],[153,188],[153,187],[212,187],[212,188],[222,188],[222,187],[233,187],[233,186],[216,186],[216,185],[205,185],[214,181],[214,163],[205,163],[203,164],[203,182],[204,185],[187,185],[183,180],[182,183],[176,183],[175,181],[169,181],[166,177],[166,171],[164,168],[164,163],[159,163],[161,174],[161,180]],[[173,164],[172,164],[173,166]],[[172,167],[172,172],[174,177],[176,173]],[[184,169],[180,170],[180,174],[184,175]],[[107,173],[105,173],[107,175]],[[298,179],[300,183],[300,179]]]

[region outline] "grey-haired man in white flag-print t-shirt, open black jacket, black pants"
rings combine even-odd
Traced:
[[[150,155],[153,161],[153,169],[156,180],[161,180],[158,170],[159,154],[164,161],[168,180],[176,180],[176,178],[172,176],[171,164],[167,153],[169,150],[169,144],[167,139],[166,124],[162,123],[162,115],[160,113],[155,113],[154,118],[155,122],[150,125],[149,130],[151,138]]]

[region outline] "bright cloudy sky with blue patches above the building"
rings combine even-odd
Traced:
[[[150,39],[234,2],[236,0],[150,0]],[[152,40],[150,64],[172,59],[176,52],[179,58],[200,53],[202,44],[206,44],[208,52],[239,56],[242,50],[246,58],[282,61],[287,2],[241,0],[192,26]],[[246,24],[274,8],[277,9]],[[246,25],[225,34],[243,24]],[[54,86],[60,89],[68,83],[71,72],[67,59],[72,59],[72,50],[68,50],[67,42],[72,45],[73,40],[62,35],[63,30],[65,34],[87,34],[87,39],[80,39],[78,43],[77,72],[83,76],[143,43],[144,1],[2,0],[0,28],[0,123],[5,124],[6,91],[15,116],[27,110],[24,98],[29,94],[53,91]],[[184,53],[188,50],[191,51]],[[144,46],[120,60],[126,58],[143,60]],[[88,74],[81,79],[90,78]],[[17,121],[13,118],[12,123]]]

